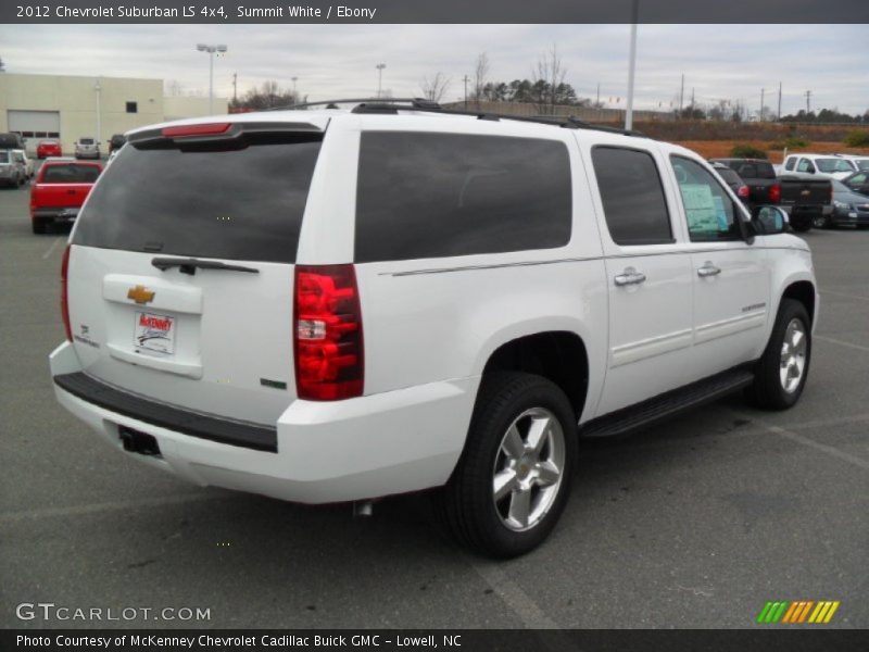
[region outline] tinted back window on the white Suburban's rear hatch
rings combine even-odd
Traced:
[[[292,263],[322,139],[274,134],[230,151],[124,147],[93,188],[73,242]]]

